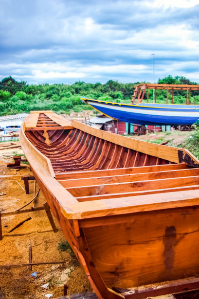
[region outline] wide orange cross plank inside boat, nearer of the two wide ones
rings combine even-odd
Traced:
[[[167,188],[198,185],[199,176],[188,176],[188,177],[174,177],[166,179],[155,179],[155,180],[143,180],[133,181],[124,183],[113,183],[103,185],[90,185],[90,186],[77,186],[66,188],[74,197],[79,196],[90,196],[99,194],[110,194],[110,193],[122,193],[122,192],[133,192],[143,190],[154,190]]]

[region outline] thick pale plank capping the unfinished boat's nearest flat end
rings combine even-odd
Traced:
[[[144,211],[172,209],[199,204],[198,190],[157,193],[123,198],[109,198],[79,202],[70,206],[73,212],[65,211],[69,219],[85,219]]]

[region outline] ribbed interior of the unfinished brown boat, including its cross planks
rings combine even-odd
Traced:
[[[181,149],[166,147],[168,153],[159,154],[160,146],[139,141],[136,150],[131,146],[134,139],[120,136],[124,142],[119,145],[114,134],[104,139],[93,134],[98,129],[89,133],[85,127],[73,122],[67,128],[39,113],[36,127],[25,131],[36,149],[50,159],[56,180],[78,201],[198,189],[198,163],[190,156],[192,163],[180,161],[185,156],[179,154]],[[147,153],[149,146],[156,155]],[[173,151],[170,155],[169,150]]]

